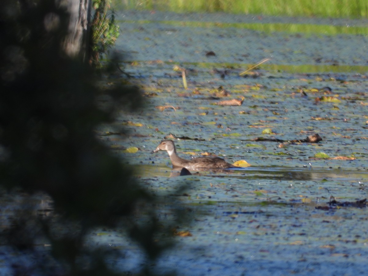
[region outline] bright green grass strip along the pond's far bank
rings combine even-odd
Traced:
[[[226,12],[302,17],[368,18],[367,0],[113,0],[117,7],[176,13]]]

